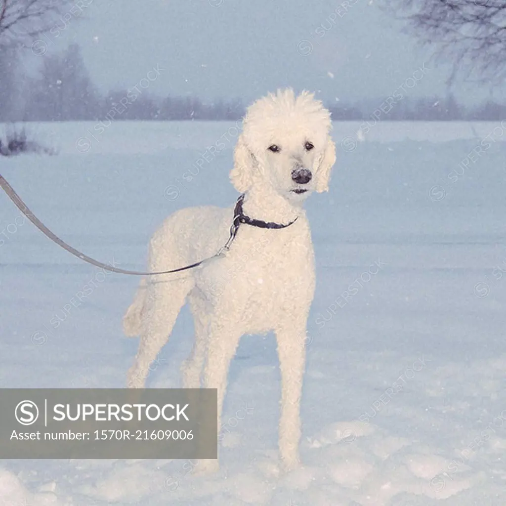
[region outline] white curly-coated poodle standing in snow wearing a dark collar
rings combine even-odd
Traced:
[[[313,94],[278,90],[249,106],[234,151],[230,179],[244,194],[235,206],[181,209],[149,244],[149,269],[163,271],[216,255],[195,269],[143,279],[123,318],[126,335],[140,335],[128,373],[143,388],[145,371],[166,343],[188,301],[195,343],[182,367],[183,387],[218,389],[218,428],[230,360],[243,334],[276,334],[281,369],[279,450],[283,466],[299,463],[300,401],[306,322],[315,289],[314,253],[303,204],[328,191],[335,146],[330,113]],[[235,218],[235,220],[234,220]],[[202,461],[208,470],[217,460]]]

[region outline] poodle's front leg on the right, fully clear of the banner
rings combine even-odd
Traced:
[[[276,330],[281,370],[279,452],[285,470],[299,466],[301,394],[306,361],[306,321],[290,322]]]

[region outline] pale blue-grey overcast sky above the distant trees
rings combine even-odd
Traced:
[[[102,91],[132,88],[158,65],[150,91],[159,95],[249,102],[291,86],[325,100],[376,99],[424,63],[431,70],[409,95],[448,91],[448,68],[435,67],[376,0],[93,0],[83,19],[57,26],[65,29],[44,39],[47,54],[80,44]],[[30,55],[29,67],[44,57]],[[488,96],[453,91],[465,100]]]

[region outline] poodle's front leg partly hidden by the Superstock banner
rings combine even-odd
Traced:
[[[227,389],[228,369],[241,338],[241,333],[234,328],[234,324],[236,321],[232,319],[226,323],[212,321],[209,325],[203,386],[204,388],[218,389],[218,435],[221,431],[221,415]],[[199,460],[194,474],[208,474],[218,470],[218,460]]]

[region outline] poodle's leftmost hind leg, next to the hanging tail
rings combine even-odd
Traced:
[[[144,388],[151,362],[167,342],[176,318],[193,287],[193,278],[155,281],[147,286],[141,339],[135,361],[128,371],[126,386]]]

